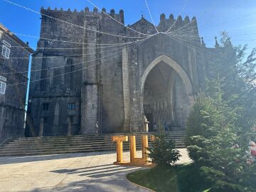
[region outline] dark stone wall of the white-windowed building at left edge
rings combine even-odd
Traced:
[[[24,136],[25,102],[29,55],[33,52],[8,30],[1,33],[0,26],[0,75],[6,78],[6,90],[0,93],[0,143],[11,137]],[[3,42],[10,46],[9,58],[2,53]],[[26,48],[27,47],[27,48]]]

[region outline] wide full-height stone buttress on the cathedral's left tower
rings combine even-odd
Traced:
[[[86,18],[87,12],[85,12]],[[95,13],[97,14],[97,13]],[[97,16],[90,21],[85,20],[85,29],[83,42],[84,54],[82,57],[82,89],[81,89],[81,134],[97,133],[95,124],[98,117],[98,83],[97,83],[97,65],[100,64],[100,58],[97,57],[97,31],[99,21]]]

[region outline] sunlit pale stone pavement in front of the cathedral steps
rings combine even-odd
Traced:
[[[179,163],[190,161],[180,150]],[[142,168],[115,166],[115,160],[113,152],[0,158],[0,191],[149,191],[126,178]]]

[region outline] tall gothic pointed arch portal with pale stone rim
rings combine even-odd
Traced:
[[[184,129],[186,117],[193,104],[193,87],[185,70],[166,55],[154,59],[141,78],[141,107],[153,124],[162,127],[167,122],[171,129]]]

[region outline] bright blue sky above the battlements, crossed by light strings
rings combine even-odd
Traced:
[[[78,11],[89,6],[93,6],[86,0],[10,0],[21,4],[35,11],[40,11],[41,6],[52,9],[62,7],[64,10],[78,9]],[[92,0],[100,8],[105,7],[107,12],[110,9],[124,10],[124,21],[131,24],[144,17],[151,21],[144,0]],[[187,4],[186,4],[187,2]],[[249,48],[256,47],[256,1],[255,0],[148,0],[149,8],[154,22],[159,23],[161,13],[174,14],[176,18],[179,14],[184,18],[196,16],[198,20],[199,33],[204,37],[206,46],[214,45],[214,36],[218,36],[220,31],[230,32],[233,44],[247,44]],[[185,9],[183,9],[186,4]],[[183,10],[183,11],[182,11]],[[0,0],[0,23],[9,28],[14,33],[23,33],[31,36],[39,36],[41,16],[31,11],[11,5]],[[36,47],[36,38],[20,36],[23,41],[28,41],[29,45]]]

